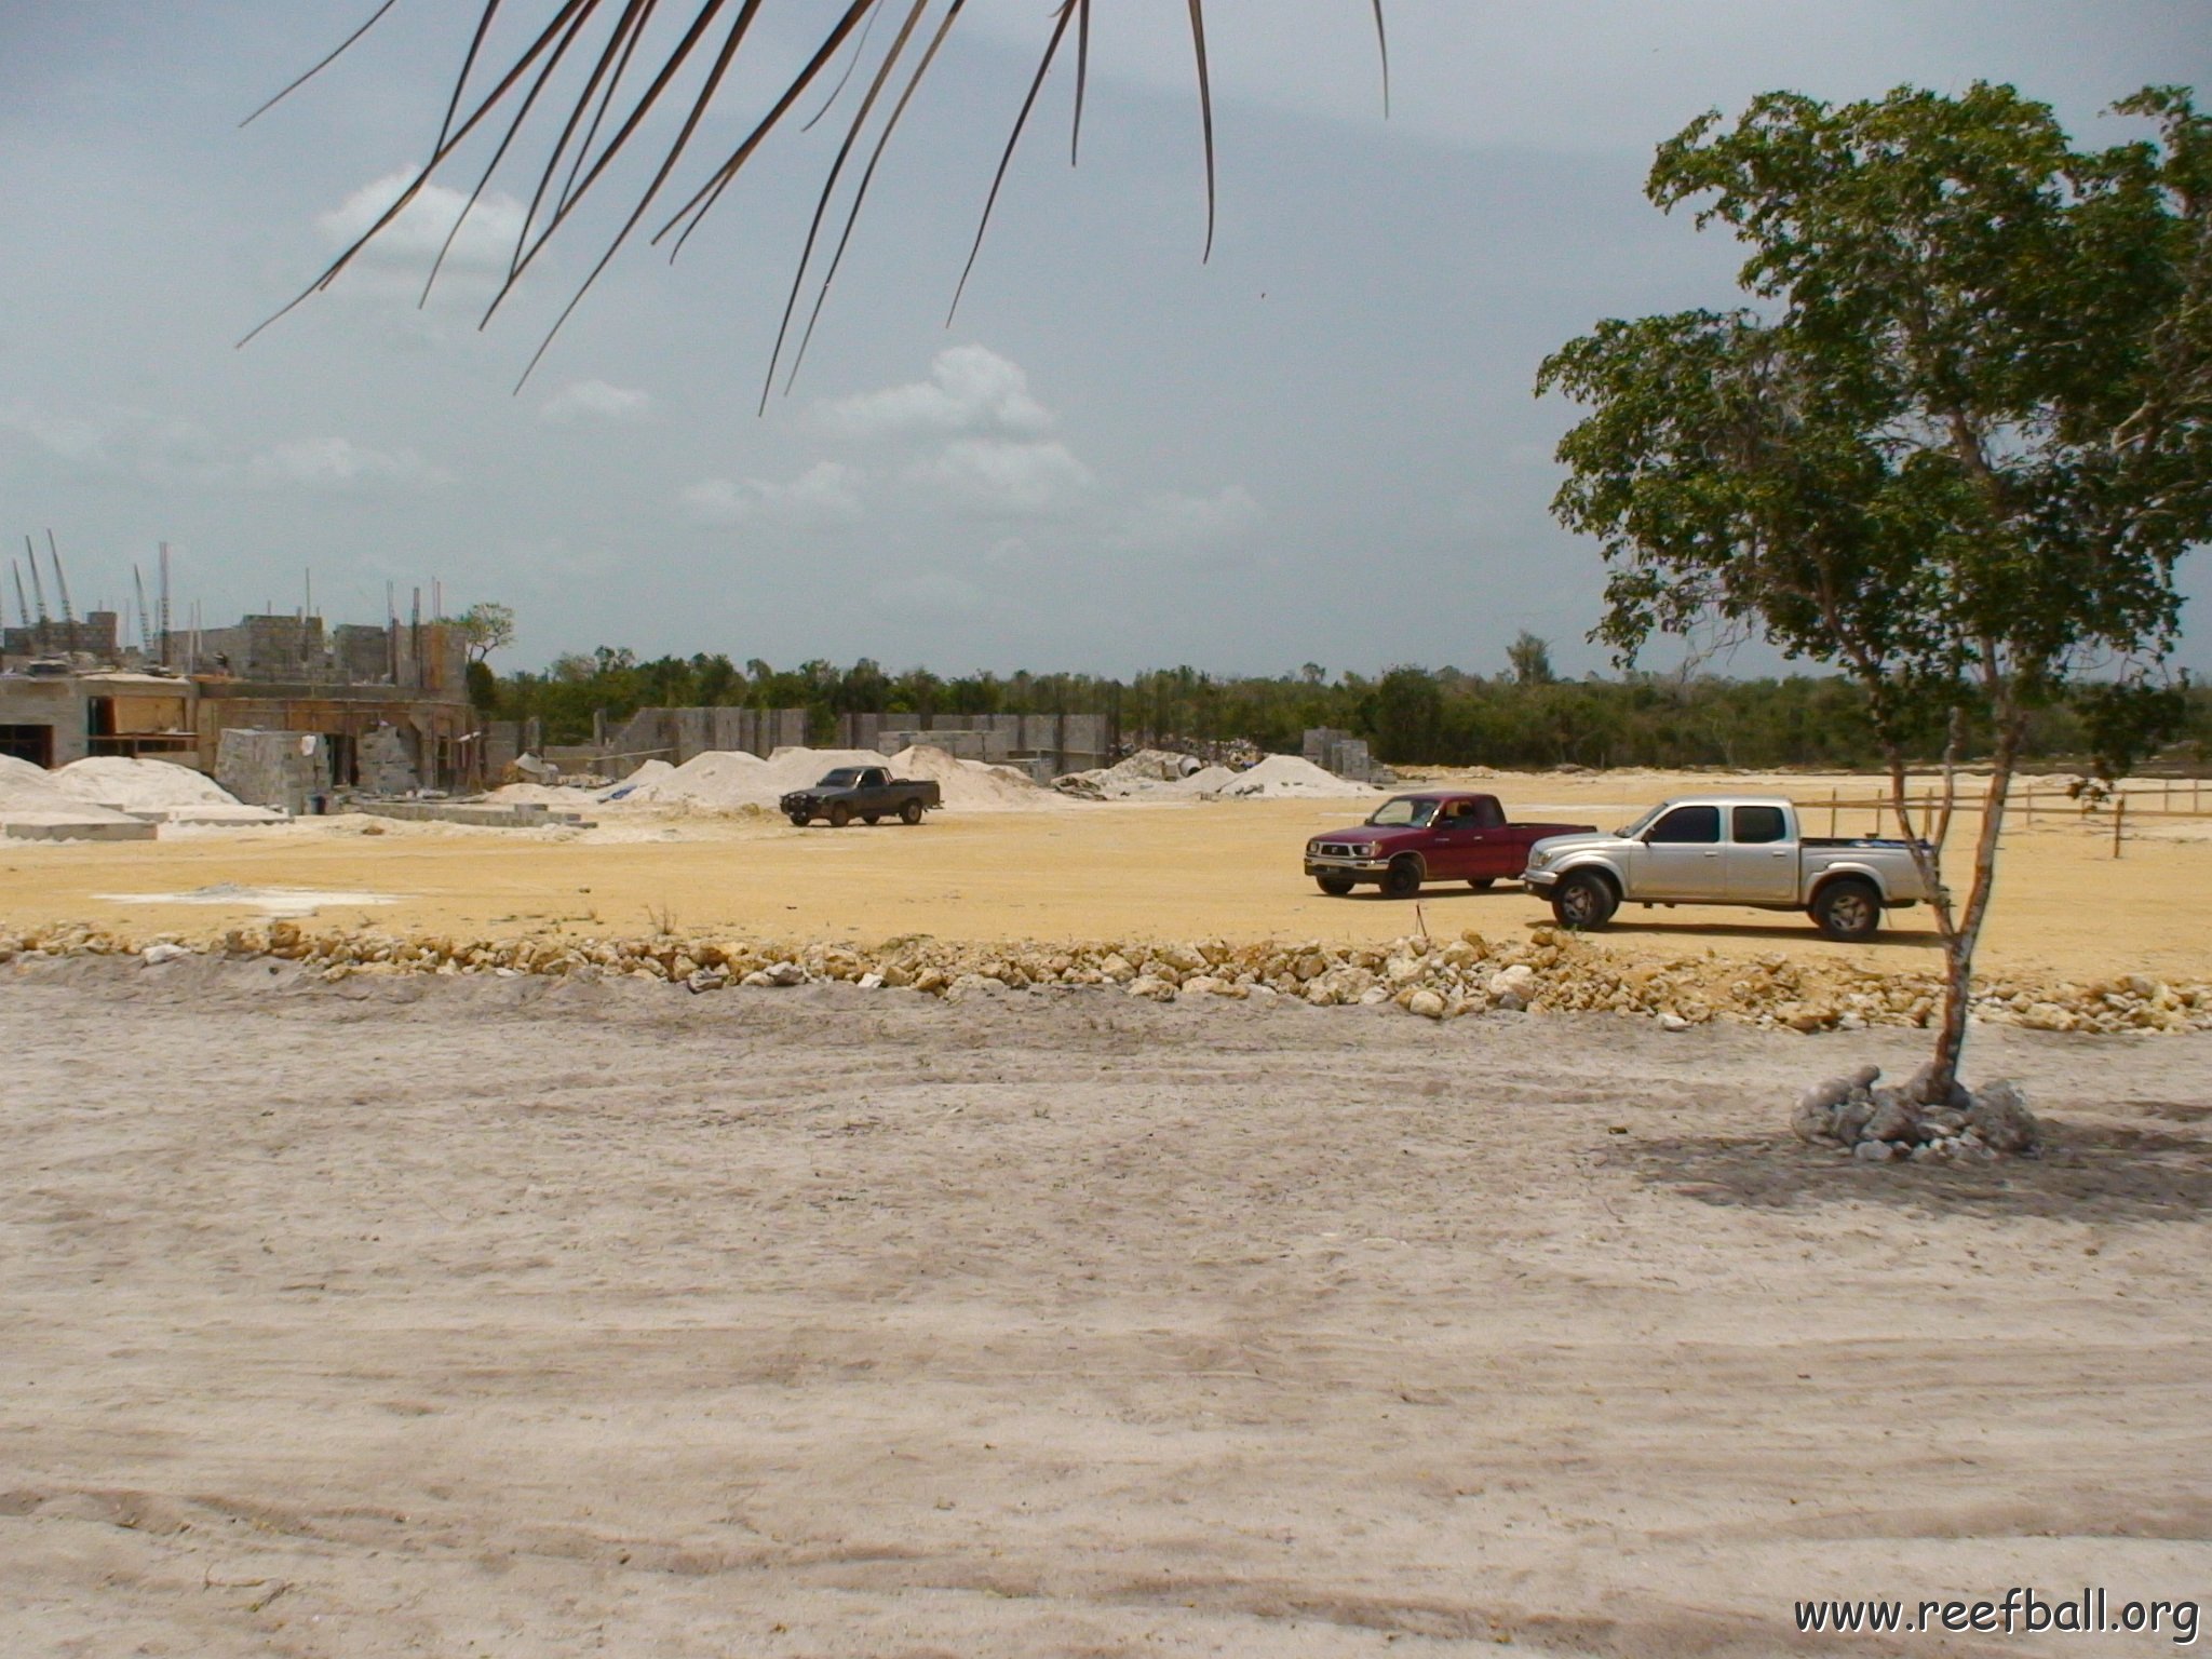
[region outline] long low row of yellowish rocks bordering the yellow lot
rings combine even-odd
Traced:
[[[157,945],[188,949],[181,936]],[[27,953],[128,953],[142,945],[100,927],[71,925],[0,933],[0,962]],[[668,980],[695,991],[723,984],[843,980],[911,987],[931,995],[1002,995],[1048,987],[1115,987],[1155,1002],[1188,998],[1298,1000],[1312,1006],[1394,1004],[1431,1020],[1489,1011],[1593,1011],[1652,1018],[1670,1031],[1739,1020],[1790,1031],[1927,1026],[1942,987],[1927,975],[1885,975],[1829,962],[1719,956],[1663,964],[1621,962],[1553,927],[1511,942],[1467,931],[1387,945],[1228,940],[1102,940],[1079,945],[991,945],[936,938],[858,945],[779,945],[719,938],[520,938],[310,933],[296,922],[234,927],[197,949],[221,956],[296,960],[325,978],[352,973],[555,973]],[[2035,987],[2031,1009],[2059,1009],[2077,1031],[2212,1029],[2212,984],[2121,980],[2095,987]],[[1975,1018],[2022,1020],[2011,1002],[1982,998]]]

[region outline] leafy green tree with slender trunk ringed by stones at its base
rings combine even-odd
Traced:
[[[2212,122],[2179,88],[2119,111],[2154,137],[2075,150],[1986,84],[1705,115],[1648,192],[1750,248],[1759,305],[1601,323],[1537,378],[1593,405],[1553,502],[1604,542],[1593,637],[1632,659],[1719,622],[1865,690],[1938,894],[1936,1093],[2028,721],[2086,670],[2170,653],[2174,562],[2212,535]],[[1940,858],[1969,721],[1991,781],[1960,902]],[[1947,790],[1916,832],[1905,761],[1929,730]]]

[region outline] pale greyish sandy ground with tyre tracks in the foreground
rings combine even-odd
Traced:
[[[1867,1168],[1785,1102],[1918,1033],[82,958],[0,1026],[9,1655],[2139,1655],[1790,1604],[2212,1586],[2208,1037],[1978,1033],[2053,1155]]]

